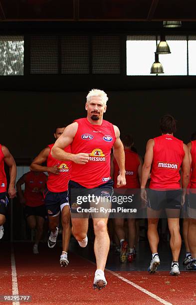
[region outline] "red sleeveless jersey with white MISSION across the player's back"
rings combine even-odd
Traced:
[[[181,188],[179,170],[185,155],[183,141],[172,135],[163,135],[154,141],[150,188]]]

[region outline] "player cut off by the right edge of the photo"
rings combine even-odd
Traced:
[[[193,137],[192,137],[193,138]],[[186,269],[189,271],[196,270],[196,140],[188,143],[192,174],[190,181],[190,191],[187,212],[189,216],[188,228],[188,245],[191,252],[191,261]]]

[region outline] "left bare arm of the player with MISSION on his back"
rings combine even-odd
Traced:
[[[153,139],[150,139],[147,142],[146,145],[146,153],[144,156],[144,164],[142,167],[142,181],[141,181],[141,188],[146,187],[147,180],[149,178],[150,170],[151,170],[151,164],[153,162],[153,148],[154,148],[155,142]]]

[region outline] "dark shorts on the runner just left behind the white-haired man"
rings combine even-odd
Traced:
[[[48,216],[57,216],[65,205],[69,205],[67,191],[54,193],[46,187],[43,196]]]

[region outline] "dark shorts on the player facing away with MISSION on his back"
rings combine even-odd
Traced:
[[[152,208],[153,210],[160,211],[162,209],[181,209],[181,189],[160,191],[149,188],[147,190],[147,194],[147,206]]]

